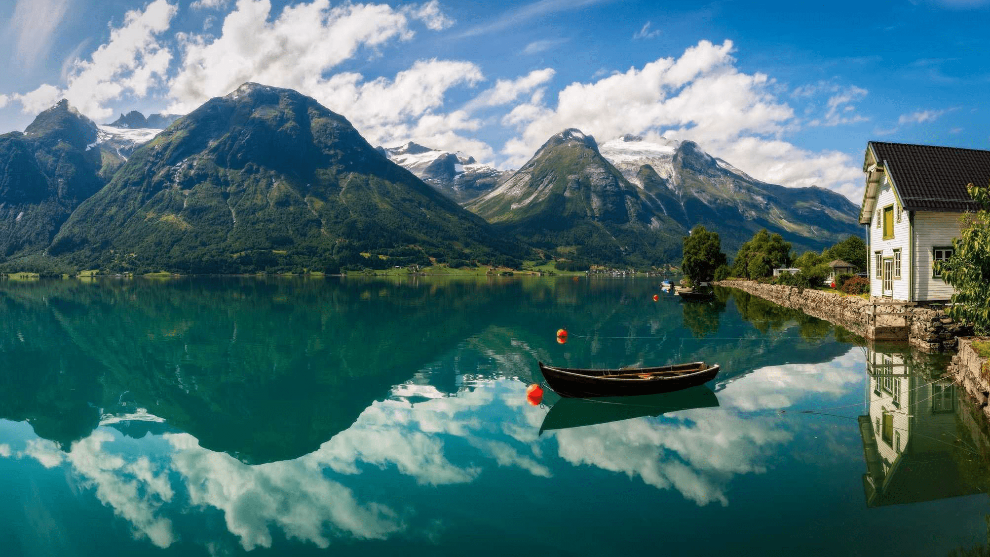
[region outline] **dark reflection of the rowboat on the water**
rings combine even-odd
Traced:
[[[691,408],[712,408],[719,399],[711,389],[699,386],[646,396],[615,396],[608,402],[584,398],[559,398],[546,412],[540,433],[551,429],[583,427],[644,416],[659,416]]]

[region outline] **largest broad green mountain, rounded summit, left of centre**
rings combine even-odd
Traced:
[[[179,273],[429,257],[511,264],[525,253],[390,163],[343,116],[255,83],[211,99],[135,151],[49,248],[77,268]]]

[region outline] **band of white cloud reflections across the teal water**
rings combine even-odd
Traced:
[[[436,487],[471,483],[494,466],[551,479],[555,468],[587,465],[674,490],[699,505],[727,505],[733,478],[765,473],[779,446],[794,436],[773,410],[812,397],[838,398],[861,381],[858,361],[853,349],[826,364],[763,368],[720,386],[721,408],[543,437],[537,433],[545,409],[525,401],[523,383],[497,379],[476,381],[456,396],[400,386],[392,398],[365,408],[350,428],[294,460],[247,465],[201,447],[187,433],[148,434],[128,441],[140,450],[124,450],[118,443],[124,436],[106,426],[68,452],[35,438],[17,451],[0,445],[0,457],[69,467],[79,486],[93,489],[98,501],[131,523],[136,537],[157,547],[179,538],[173,522],[179,513],[211,509],[223,513],[226,529],[246,550],[271,547],[272,528],[318,547],[339,536],[384,539],[408,530],[406,509],[358,501],[347,487],[367,467]]]

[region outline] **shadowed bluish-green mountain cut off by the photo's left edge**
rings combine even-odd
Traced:
[[[122,162],[65,100],[21,132],[0,135],[0,263],[48,247],[80,202]]]

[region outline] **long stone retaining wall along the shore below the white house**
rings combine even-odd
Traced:
[[[800,309],[870,340],[907,340],[931,352],[954,350],[957,337],[972,334],[972,327],[953,322],[941,309],[926,306],[875,306],[876,311],[907,315],[877,315],[874,318],[873,302],[858,296],[783,284],[761,284],[754,280],[722,280],[717,284],[739,288],[784,307]]]

